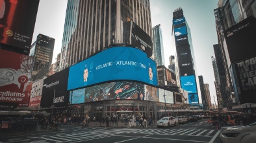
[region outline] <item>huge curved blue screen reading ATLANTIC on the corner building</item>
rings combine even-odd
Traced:
[[[68,90],[113,80],[157,85],[155,61],[133,47],[112,47],[70,67]]]

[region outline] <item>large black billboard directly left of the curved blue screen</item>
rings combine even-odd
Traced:
[[[43,92],[41,98],[41,107],[49,108],[53,105],[55,107],[63,107],[68,105],[70,99],[70,92],[68,88],[68,72],[70,68],[57,72],[52,76],[48,76],[44,80]]]

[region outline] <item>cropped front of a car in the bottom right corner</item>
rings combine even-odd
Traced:
[[[256,122],[247,126],[227,126],[220,130],[222,143],[254,143],[256,142]]]

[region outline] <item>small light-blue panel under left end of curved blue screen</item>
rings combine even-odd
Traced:
[[[83,104],[84,103],[85,89],[78,89],[70,91],[70,103],[71,104]]]

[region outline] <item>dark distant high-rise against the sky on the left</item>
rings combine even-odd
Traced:
[[[34,57],[32,81],[36,82],[48,76],[49,67],[53,60],[54,44],[54,38],[38,34],[36,41],[31,45],[29,56]]]

